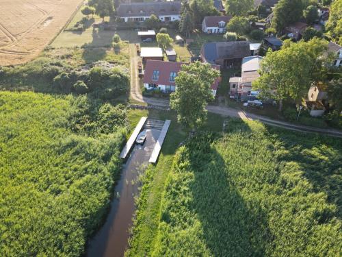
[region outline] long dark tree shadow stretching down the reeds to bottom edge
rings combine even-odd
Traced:
[[[211,147],[215,136],[205,137],[206,149],[189,151],[194,171],[189,209],[200,219],[207,248],[213,256],[265,256],[271,238],[267,215],[257,201],[247,203],[241,197],[224,159]],[[196,140],[202,141],[203,135],[187,147],[196,149]]]

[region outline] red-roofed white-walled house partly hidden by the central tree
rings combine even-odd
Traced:
[[[163,62],[156,60],[147,60],[144,74],[144,87],[148,90],[159,88],[161,92],[170,93],[176,90],[174,79],[177,73],[181,71],[182,65],[187,62]],[[213,69],[220,71],[220,65],[211,65]],[[220,77],[211,85],[211,91],[215,97],[218,90]]]

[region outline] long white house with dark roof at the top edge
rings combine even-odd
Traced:
[[[121,3],[117,14],[124,22],[146,21],[152,14],[155,14],[161,21],[179,21],[181,20],[181,3],[174,1]]]

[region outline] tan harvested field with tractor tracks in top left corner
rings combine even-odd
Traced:
[[[1,0],[0,65],[25,63],[64,27],[83,0]]]

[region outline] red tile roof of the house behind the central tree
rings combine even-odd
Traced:
[[[147,60],[145,66],[144,83],[146,84],[158,84],[166,86],[174,86],[174,82],[170,82],[170,73],[178,73],[181,71],[182,65],[187,65],[187,62],[164,62],[157,60]],[[220,65],[211,65],[213,69],[220,71]],[[153,80],[153,71],[159,71],[159,79],[157,81]],[[218,84],[220,82],[220,77],[215,80],[211,85],[211,89],[217,90]]]

